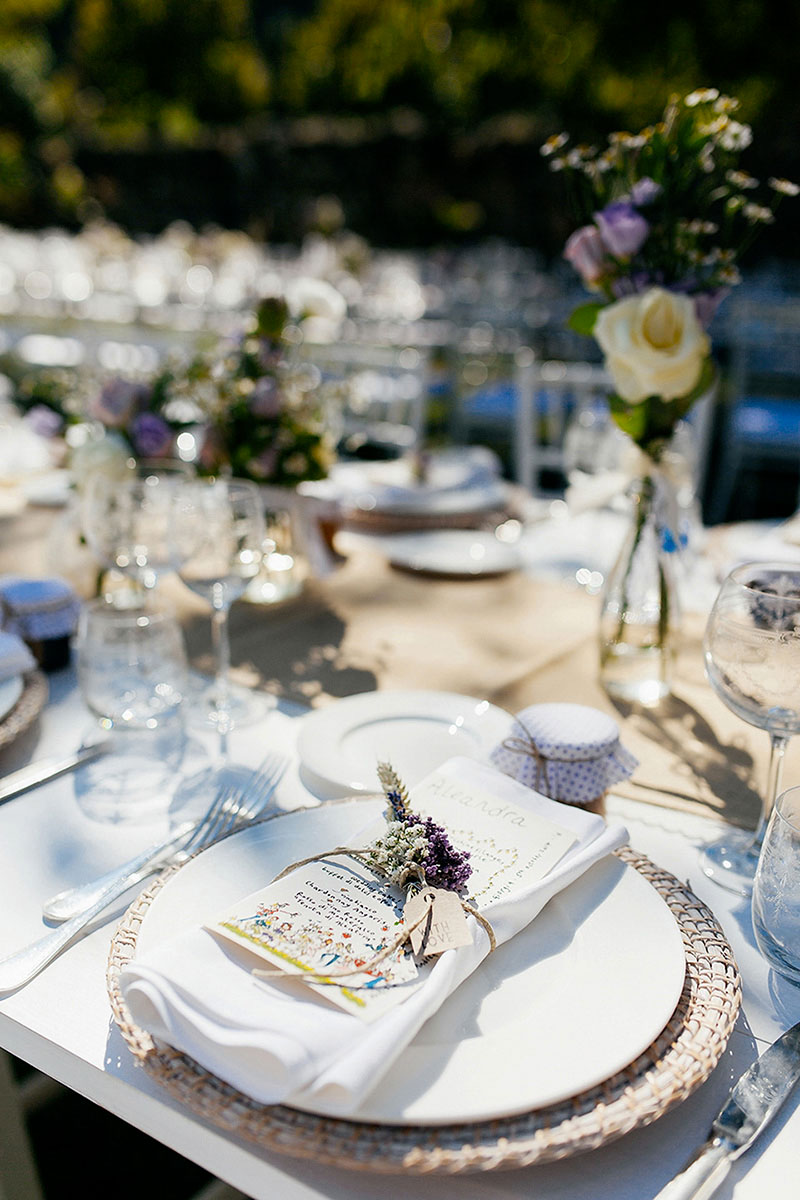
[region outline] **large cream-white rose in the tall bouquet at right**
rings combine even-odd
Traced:
[[[594,329],[622,400],[674,400],[692,390],[711,343],[690,296],[650,288],[601,308]]]

